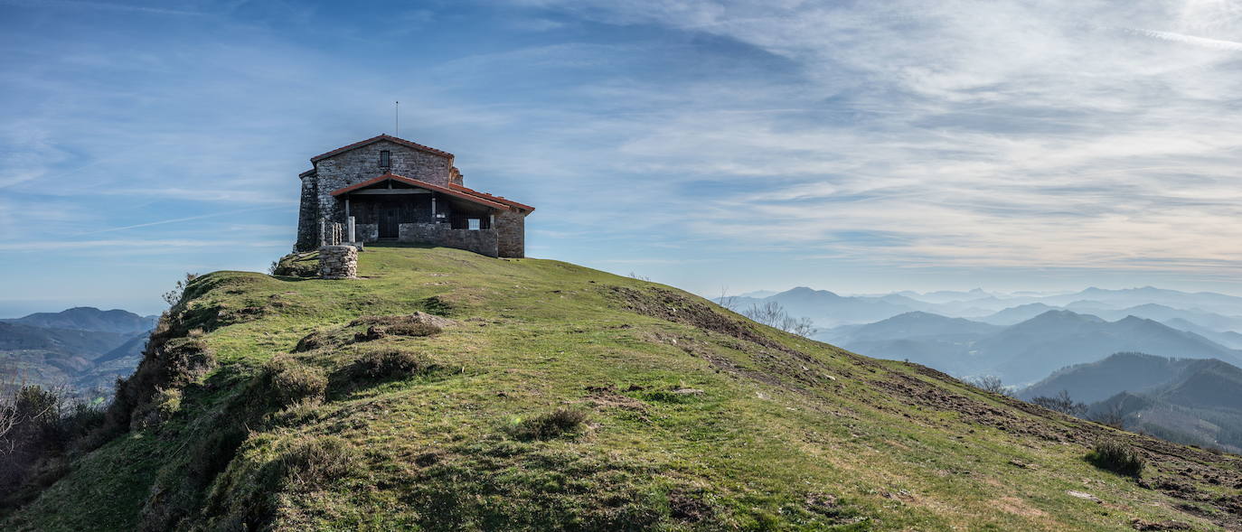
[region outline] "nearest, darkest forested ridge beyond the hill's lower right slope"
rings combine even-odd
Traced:
[[[1115,353],[1057,371],[1018,397],[1030,401],[1061,391],[1090,403],[1088,417],[1113,415],[1128,430],[1242,453],[1242,370],[1235,365]]]

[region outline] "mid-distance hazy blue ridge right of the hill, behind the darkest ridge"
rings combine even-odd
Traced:
[[[1242,352],[1155,320],[1108,321],[1068,310],[1048,310],[1010,326],[914,311],[831,329],[816,340],[961,377],[991,375],[1009,384],[1035,382],[1058,368],[1120,351],[1242,363]]]

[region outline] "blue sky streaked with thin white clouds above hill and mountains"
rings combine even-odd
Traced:
[[[287,253],[380,133],[700,294],[1242,294],[1242,2],[0,0],[0,316]]]

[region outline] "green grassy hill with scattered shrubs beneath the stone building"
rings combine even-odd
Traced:
[[[359,272],[196,279],[120,387],[107,438],[0,526],[1242,526],[1235,456],[857,356],[668,286],[442,248],[368,248]],[[1141,477],[1092,465],[1102,439],[1145,455]]]

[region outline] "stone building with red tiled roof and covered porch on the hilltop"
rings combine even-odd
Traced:
[[[302,172],[297,250],[328,241],[354,218],[359,242],[410,242],[488,257],[525,254],[525,217],[535,208],[467,188],[453,154],[391,135],[310,157]]]

